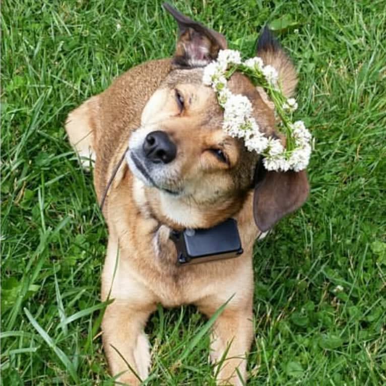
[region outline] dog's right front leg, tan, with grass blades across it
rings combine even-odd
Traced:
[[[210,317],[221,306],[216,300],[206,298],[199,309]],[[253,337],[252,295],[246,304],[234,305],[232,300],[214,324],[210,359],[216,364],[217,384],[241,386],[246,381],[246,356]]]

